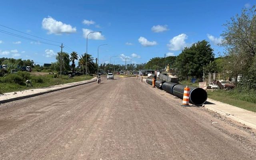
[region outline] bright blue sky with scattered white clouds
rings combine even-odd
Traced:
[[[224,52],[218,46],[223,24],[255,4],[255,0],[2,0],[0,57],[43,65],[56,62],[61,44],[63,52],[81,56],[87,42],[88,54],[99,56],[99,64],[125,64],[125,59],[127,64],[141,64],[154,57],[178,56],[184,47],[201,40],[210,42],[218,57]]]

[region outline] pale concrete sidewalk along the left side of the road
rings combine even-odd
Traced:
[[[34,97],[34,96],[39,96],[42,94],[58,91],[58,90],[63,90],[66,88],[71,88],[75,86],[80,86],[83,84],[88,84],[91,82],[96,82],[97,78],[92,78],[91,80],[84,80],[80,82],[73,82],[73,83],[67,83],[67,84],[60,84],[57,86],[50,86],[47,88],[35,88],[35,89],[29,89],[29,90],[22,90],[22,91],[16,91],[16,92],[9,92],[4,95],[0,96],[0,104],[1,103],[6,103],[14,100],[20,100],[24,98],[29,98],[29,97]]]

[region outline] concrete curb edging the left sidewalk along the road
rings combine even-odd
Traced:
[[[10,98],[10,99],[7,99],[7,100],[0,100],[0,104],[6,103],[6,102],[11,102],[11,101],[14,101],[14,100],[21,100],[21,99],[25,99],[25,98],[39,96],[39,95],[42,95],[42,94],[46,94],[46,93],[50,93],[50,92],[55,92],[55,91],[58,91],[58,90],[64,90],[64,89],[67,89],[67,88],[72,88],[72,87],[76,87],[76,86],[80,86],[80,85],[84,85],[84,84],[88,84],[88,83],[92,83],[92,82],[97,82],[97,80],[91,80],[89,82],[84,82],[84,83],[80,83],[80,84],[74,84],[72,86],[66,86],[66,87],[63,87],[63,88],[58,88],[58,89],[54,89],[54,90],[48,90],[48,91],[45,91],[45,92],[39,92],[39,93],[35,93],[35,94],[30,94],[30,95],[27,95],[27,96],[20,96],[20,97]]]

